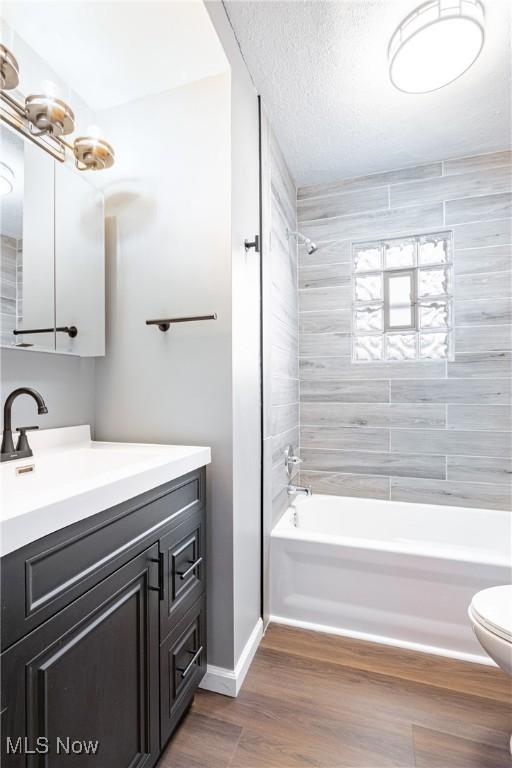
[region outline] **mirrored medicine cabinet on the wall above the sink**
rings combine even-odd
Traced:
[[[103,195],[4,125],[0,144],[0,343],[104,355]]]

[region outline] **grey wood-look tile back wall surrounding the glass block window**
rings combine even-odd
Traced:
[[[301,482],[319,493],[510,508],[512,153],[298,192]],[[351,362],[353,240],[450,229],[455,360]]]

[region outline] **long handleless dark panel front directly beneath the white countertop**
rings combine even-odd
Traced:
[[[205,501],[196,470],[2,558],[2,648],[120,568]]]

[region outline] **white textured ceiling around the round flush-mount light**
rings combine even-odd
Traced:
[[[226,0],[299,185],[509,145],[508,0],[484,0],[486,42],[463,77],[434,93],[410,95],[391,85],[386,49],[419,4]]]

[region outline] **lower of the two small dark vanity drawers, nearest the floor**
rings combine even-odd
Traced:
[[[160,746],[163,747],[206,672],[206,598],[160,645]]]

